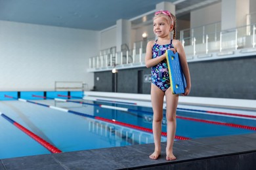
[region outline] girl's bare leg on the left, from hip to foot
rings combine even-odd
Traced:
[[[161,153],[161,121],[163,119],[163,96],[164,92],[156,85],[151,84],[151,101],[154,111],[153,115],[153,135],[155,151],[149,157],[153,160],[158,159]]]

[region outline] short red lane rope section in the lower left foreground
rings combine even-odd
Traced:
[[[43,145],[45,148],[47,148],[50,152],[57,154],[57,153],[61,153],[62,151],[59,150],[58,148],[56,148],[55,146],[53,146],[52,144],[48,143],[47,141],[41,139],[41,137],[35,135],[35,133],[33,133],[32,131],[26,129],[25,127],[21,126],[20,124],[18,124],[17,122],[14,122],[14,126],[18,127],[20,130],[22,130],[24,133],[26,133],[27,135],[29,135],[30,137],[32,137],[35,141],[37,141],[38,143],[40,143],[41,145]]]

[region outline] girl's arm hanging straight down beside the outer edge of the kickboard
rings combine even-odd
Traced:
[[[188,62],[186,61],[186,54],[184,52],[184,48],[179,40],[173,40],[173,45],[175,46],[176,51],[179,53],[179,59],[181,61],[182,71],[186,78],[186,89],[183,95],[188,95],[191,89],[191,82],[190,82],[190,72],[188,69]]]

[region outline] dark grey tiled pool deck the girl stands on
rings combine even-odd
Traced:
[[[253,169],[256,133],[175,141],[175,161],[148,156],[154,144],[3,159],[0,169]]]

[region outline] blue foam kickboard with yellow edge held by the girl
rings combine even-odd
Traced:
[[[171,90],[173,94],[185,92],[186,79],[184,77],[178,52],[173,53],[172,50],[166,50],[165,56],[169,70]]]

